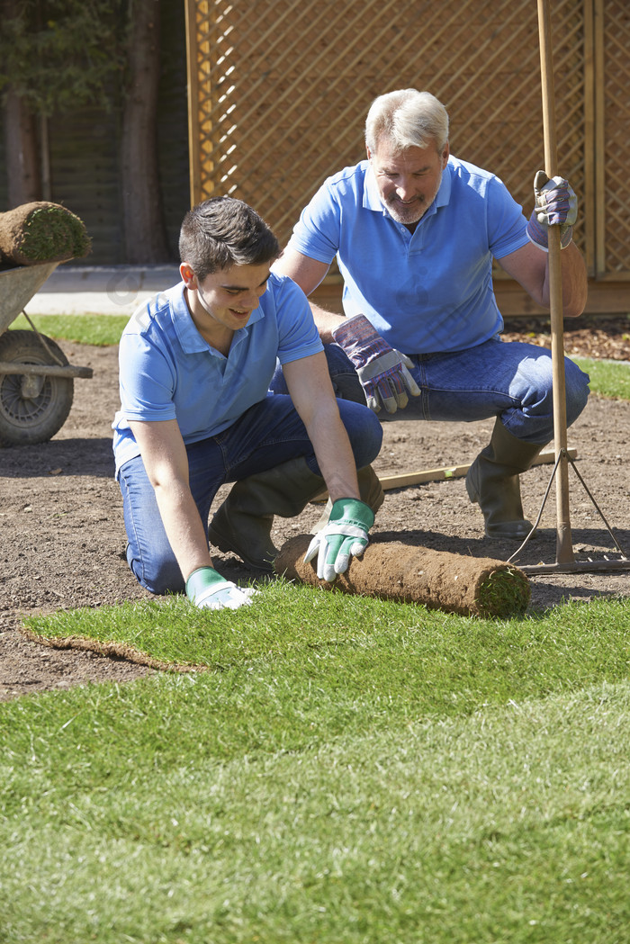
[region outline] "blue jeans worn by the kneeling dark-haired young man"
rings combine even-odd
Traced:
[[[378,418],[358,403],[337,401],[357,468],[379,454],[383,430]],[[204,527],[221,485],[303,456],[321,475],[306,428],[290,396],[267,396],[250,407],[229,429],[186,447],[190,488]],[[171,549],[153,486],[140,456],[119,472],[127,530],[127,560],[136,579],[155,594],[180,592],[184,580]]]

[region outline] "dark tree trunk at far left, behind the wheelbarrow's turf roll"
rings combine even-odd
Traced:
[[[5,110],[9,207],[42,199],[37,124],[19,95],[9,92]]]

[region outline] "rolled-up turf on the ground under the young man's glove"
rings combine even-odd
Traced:
[[[280,549],[276,573],[324,590],[421,603],[429,609],[474,616],[523,613],[530,598],[527,576],[518,567],[487,557],[417,548],[374,535],[363,557],[334,583],[317,579],[315,561],[304,563],[311,534],[299,534]]]

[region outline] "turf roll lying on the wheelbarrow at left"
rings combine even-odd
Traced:
[[[59,203],[37,200],[0,213],[3,266],[65,262],[87,256],[91,240],[85,224]]]

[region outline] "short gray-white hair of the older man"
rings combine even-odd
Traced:
[[[395,151],[428,147],[443,151],[449,140],[449,115],[430,92],[399,89],[379,95],[366,118],[366,145],[375,153],[381,141]]]

